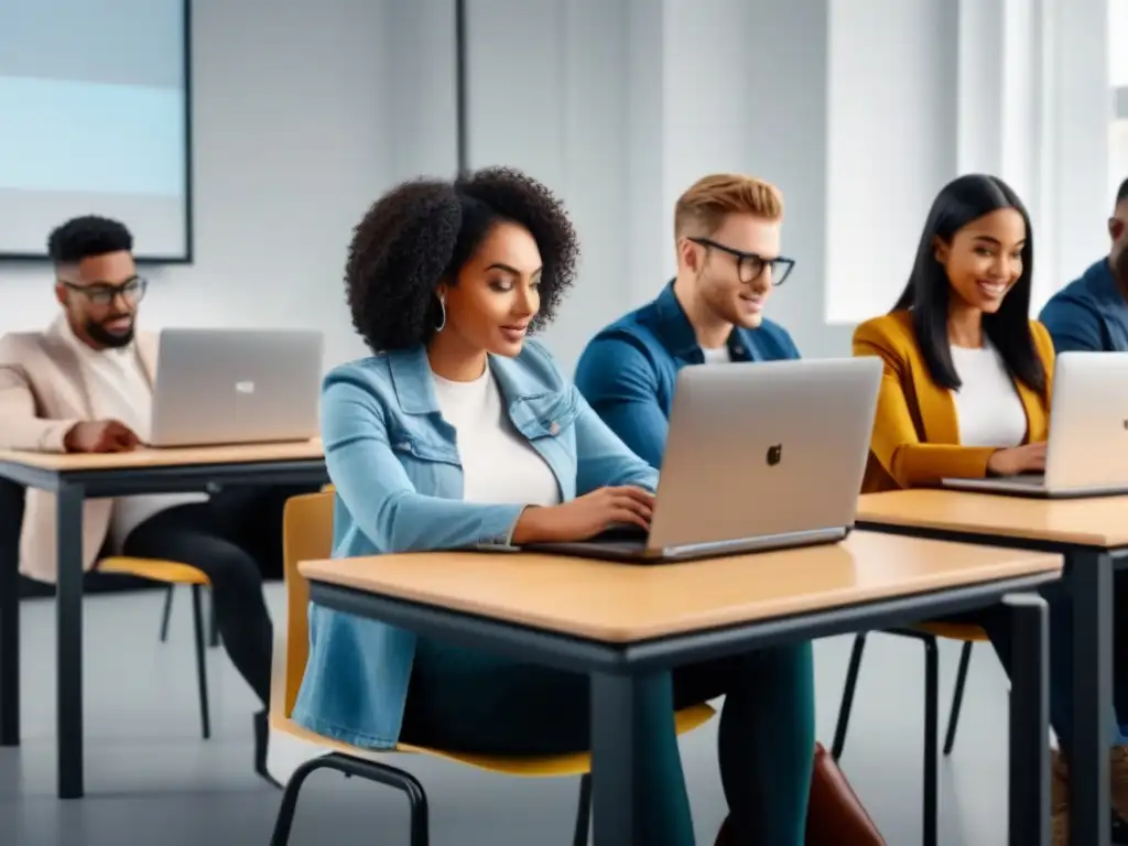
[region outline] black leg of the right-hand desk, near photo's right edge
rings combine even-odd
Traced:
[[[1112,561],[1107,553],[1074,553],[1066,567],[1074,603],[1069,843],[1109,846]]]

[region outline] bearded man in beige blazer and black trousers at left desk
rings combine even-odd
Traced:
[[[156,343],[135,331],[146,281],[132,248],[130,231],[104,218],[76,218],[51,233],[61,311],[45,332],[0,337],[0,449],[120,452],[146,441]],[[54,582],[53,495],[2,488],[0,523],[21,514],[20,572]],[[254,722],[255,769],[273,782],[265,766],[273,631],[262,571],[281,566],[263,559],[281,559],[281,506],[291,492],[226,493],[88,500],[83,565],[91,570],[111,553],[184,562],[206,573],[223,645],[263,704]]]

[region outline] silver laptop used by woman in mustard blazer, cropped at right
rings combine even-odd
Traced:
[[[1128,493],[1128,353],[1057,356],[1045,474],[946,478],[943,484],[1016,496]]]

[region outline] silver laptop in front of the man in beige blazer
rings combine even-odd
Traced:
[[[319,332],[165,329],[149,446],[307,440],[320,380]]]

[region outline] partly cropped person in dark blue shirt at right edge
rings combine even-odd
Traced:
[[[1039,316],[1059,353],[1128,351],[1128,179],[1117,192],[1109,235],[1109,255],[1054,294]]]

